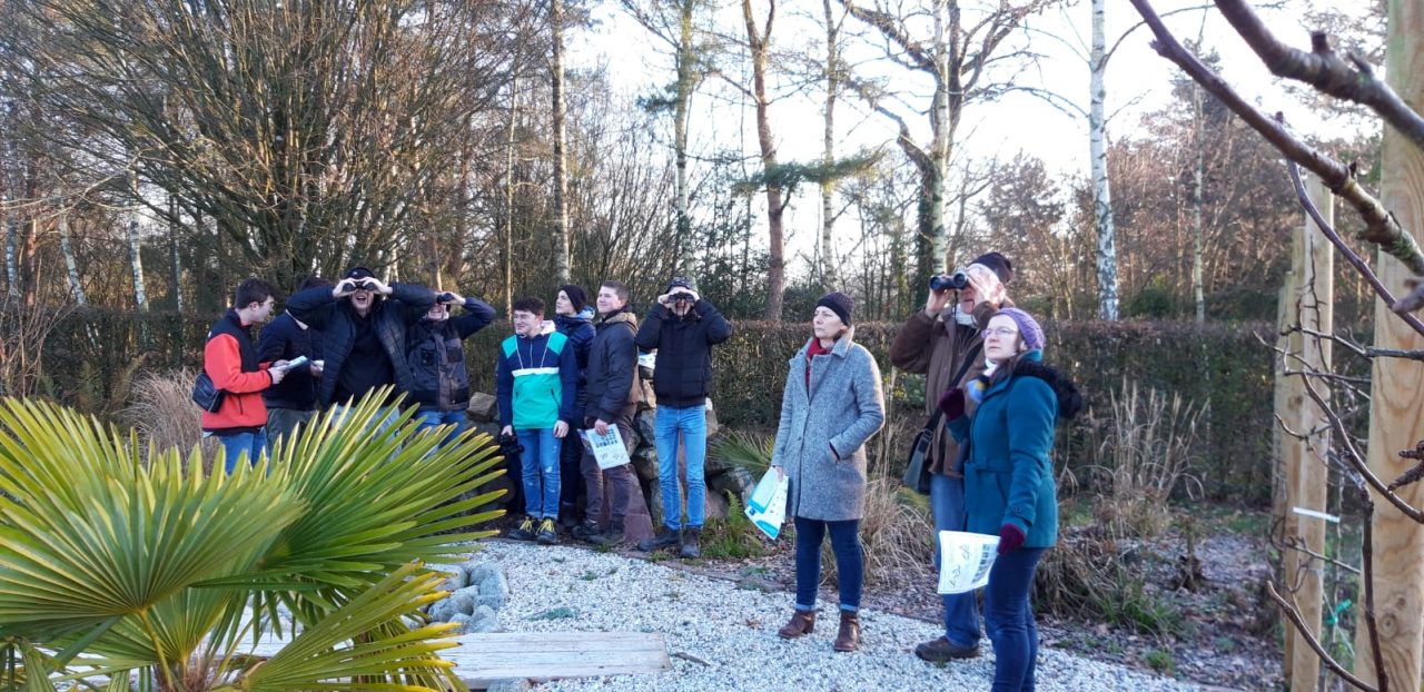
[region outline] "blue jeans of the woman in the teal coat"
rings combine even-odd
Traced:
[[[1034,692],[1038,625],[1028,605],[1038,558],[1047,548],[1020,548],[1000,555],[984,587],[984,625],[994,642],[993,692]]]

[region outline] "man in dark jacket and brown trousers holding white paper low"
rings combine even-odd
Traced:
[[[585,386],[584,429],[607,434],[618,427],[624,446],[632,453],[632,417],[638,399],[634,396],[634,376],[638,369],[638,346],[634,335],[638,332],[638,318],[628,309],[628,286],[617,281],[605,281],[598,288],[597,335],[588,347],[588,382]],[[574,538],[604,545],[617,545],[624,540],[624,518],[639,493],[638,478],[632,464],[600,468],[590,450],[584,451],[580,467],[584,486],[588,488],[588,507],[584,523],[574,527]],[[608,508],[608,528],[601,530],[604,520],[604,480],[612,484],[612,501]],[[639,503],[641,504],[641,503]]]

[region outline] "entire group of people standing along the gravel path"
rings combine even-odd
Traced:
[[[960,282],[931,282],[924,309],[896,333],[890,360],[926,374],[927,413],[938,411],[928,453],[934,530],[998,535],[983,609],[995,652],[993,689],[1031,691],[1038,636],[1028,592],[1058,534],[1049,450],[1057,423],[1077,414],[1082,400],[1071,380],[1042,363],[1040,323],[1010,300],[1010,261],[990,252],[961,273]],[[461,342],[494,319],[487,303],[387,285],[355,268],[335,285],[303,285],[253,345],[248,330],[266,322],[273,305],[269,283],[242,282],[205,347],[204,367],[226,399],[218,411],[204,413],[202,426],[228,450],[229,473],[241,454],[258,458],[269,437],[290,436],[319,407],[350,406],[386,384],[419,406],[422,427],[459,431],[464,424],[470,384]],[[464,313],[451,318],[451,305]],[[698,557],[711,350],[731,336],[731,325],[681,278],[668,283],[641,325],[628,286],[617,281],[600,285],[592,306],[580,286],[561,286],[554,306],[554,319],[545,320],[543,300],[515,300],[514,335],[496,355],[501,434],[523,447],[524,515],[508,535],[551,544],[562,523],[587,542],[624,541],[637,477],[631,464],[601,468],[580,437],[617,429],[632,451],[644,392],[641,349],[656,352],[662,527],[638,548]],[[829,534],[840,601],[836,651],[860,646],[864,446],[886,416],[880,370],[854,343],[853,313],[854,300],[844,293],[817,300],[812,335],[789,362],[772,453],[773,467],[789,480],[786,514],[796,530],[795,609],[778,634],[795,639],[813,631]],[[288,367],[298,356],[309,363]],[[975,594],[943,598],[944,635],[916,646],[916,655],[931,662],[977,656]]]

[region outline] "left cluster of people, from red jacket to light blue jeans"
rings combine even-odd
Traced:
[[[600,285],[594,305],[582,288],[564,285],[553,320],[544,319],[545,303],[538,298],[513,302],[514,335],[494,355],[500,433],[520,450],[524,510],[507,535],[554,544],[564,525],[587,542],[624,541],[638,478],[631,464],[600,467],[584,436],[615,429],[625,451],[632,451],[632,421],[644,392],[642,349],[656,352],[659,373],[652,389],[664,527],[638,547],[699,557],[711,349],[732,327],[689,279],[671,281],[641,326],[628,299],[628,286],[617,281]],[[253,342],[252,326],[272,318],[276,300],[271,283],[244,281],[204,346],[204,372],[224,399],[216,410],[202,413],[202,430],[222,444],[229,474],[242,457],[255,464],[269,440],[292,439],[318,410],[333,407],[342,420],[345,409],[387,386],[382,403],[404,397],[403,406],[416,406],[417,431],[447,426],[449,439],[463,431],[470,404],[464,339],[494,320],[488,303],[414,283],[386,283],[357,266],[336,283],[303,282]],[[463,313],[451,316],[453,305]],[[392,407],[383,426],[394,416]],[[685,474],[679,474],[679,450]]]

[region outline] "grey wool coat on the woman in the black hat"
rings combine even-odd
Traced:
[[[790,478],[787,515],[859,520],[866,514],[864,444],[886,420],[880,367],[864,346],[854,343],[852,329],[829,355],[812,360],[807,389],[810,343],[796,352],[786,373],[772,463]]]

